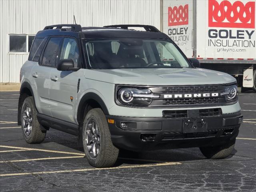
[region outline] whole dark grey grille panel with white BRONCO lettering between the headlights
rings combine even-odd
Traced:
[[[194,86],[158,86],[150,87],[153,94],[160,95],[155,98],[150,107],[197,107],[216,106],[226,104],[221,96],[227,85],[194,85]],[[204,96],[209,94],[209,96]],[[216,95],[217,94],[217,95]],[[188,96],[191,95],[191,96]]]

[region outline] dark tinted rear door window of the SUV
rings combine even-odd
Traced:
[[[56,66],[56,59],[58,58],[58,51],[59,51],[61,42],[62,42],[61,37],[50,38],[44,50],[42,65],[51,66],[51,67]]]

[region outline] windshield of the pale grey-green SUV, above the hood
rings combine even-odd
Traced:
[[[84,42],[91,68],[191,67],[176,46],[165,40],[108,39]]]

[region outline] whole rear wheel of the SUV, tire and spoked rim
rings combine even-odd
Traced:
[[[22,104],[20,118],[23,138],[27,143],[41,143],[46,135],[46,131],[42,132],[36,115],[33,97],[27,97]]]

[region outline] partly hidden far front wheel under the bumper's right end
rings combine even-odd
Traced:
[[[232,140],[226,144],[219,146],[200,147],[200,150],[206,158],[223,159],[232,153],[236,140]]]

